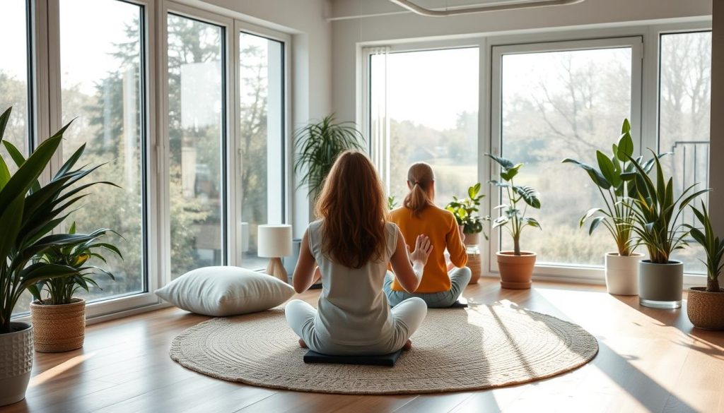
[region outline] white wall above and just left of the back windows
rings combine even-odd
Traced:
[[[480,4],[480,0],[418,0],[425,7]],[[712,14],[712,0],[585,0],[580,4],[423,17],[387,0],[334,0],[331,17],[396,14],[335,20],[332,23],[332,106],[340,119],[355,120],[358,43],[384,43],[413,38],[470,36],[591,25],[626,25],[646,20],[694,18]],[[713,116],[712,116],[713,117]]]

